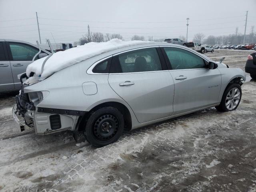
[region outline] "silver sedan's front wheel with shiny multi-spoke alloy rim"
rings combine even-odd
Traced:
[[[240,94],[238,94],[238,92]],[[232,93],[234,93],[234,95],[232,95]],[[216,106],[215,108],[218,111],[222,111],[222,112],[236,110],[236,108],[240,103],[241,98],[242,98],[242,90],[240,85],[236,83],[232,83],[224,91],[220,105]]]

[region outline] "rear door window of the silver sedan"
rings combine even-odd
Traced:
[[[129,51],[113,57],[110,72],[131,73],[162,70],[156,48]]]

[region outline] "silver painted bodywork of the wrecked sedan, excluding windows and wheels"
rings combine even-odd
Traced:
[[[151,72],[95,74],[92,68],[98,62],[122,52],[134,49],[172,46],[186,49],[200,56],[206,62],[208,57],[190,48],[169,43],[152,43],[112,50],[94,56],[68,68],[64,68],[45,80],[24,88],[25,93],[48,91],[49,94],[36,105],[40,108],[56,108],[89,112],[99,104],[118,102],[130,112],[132,129],[181,116],[220,103],[227,84],[234,78],[245,80],[241,69],[227,68],[218,64],[217,69],[162,70]],[[186,76],[176,80],[175,77]],[[125,81],[134,82],[129,86],[119,86]],[[97,92],[85,94],[86,82],[96,84]],[[92,84],[90,84],[91,86]],[[95,88],[95,87],[94,87]],[[96,92],[96,93],[95,93]],[[38,124],[36,118],[51,114],[34,113],[34,126],[37,133],[49,133],[49,124]],[[60,115],[62,128],[74,130],[78,116]],[[45,131],[48,129],[49,131]]]

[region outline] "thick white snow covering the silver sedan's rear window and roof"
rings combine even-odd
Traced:
[[[91,58],[93,56],[102,54],[104,52],[112,51],[119,48],[124,48],[132,45],[148,44],[150,41],[122,41],[119,39],[112,39],[108,42],[90,42],[82,46],[77,46],[65,51],[54,53],[45,63],[44,71],[41,74],[41,68],[46,57],[34,61],[28,65],[26,74],[29,77],[31,72],[34,76],[41,76],[46,78],[55,72],[62,70],[68,66],[74,65],[78,62]]]

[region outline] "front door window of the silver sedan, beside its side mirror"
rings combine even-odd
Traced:
[[[173,70],[206,67],[204,60],[190,51],[174,47],[165,47],[164,50]]]

